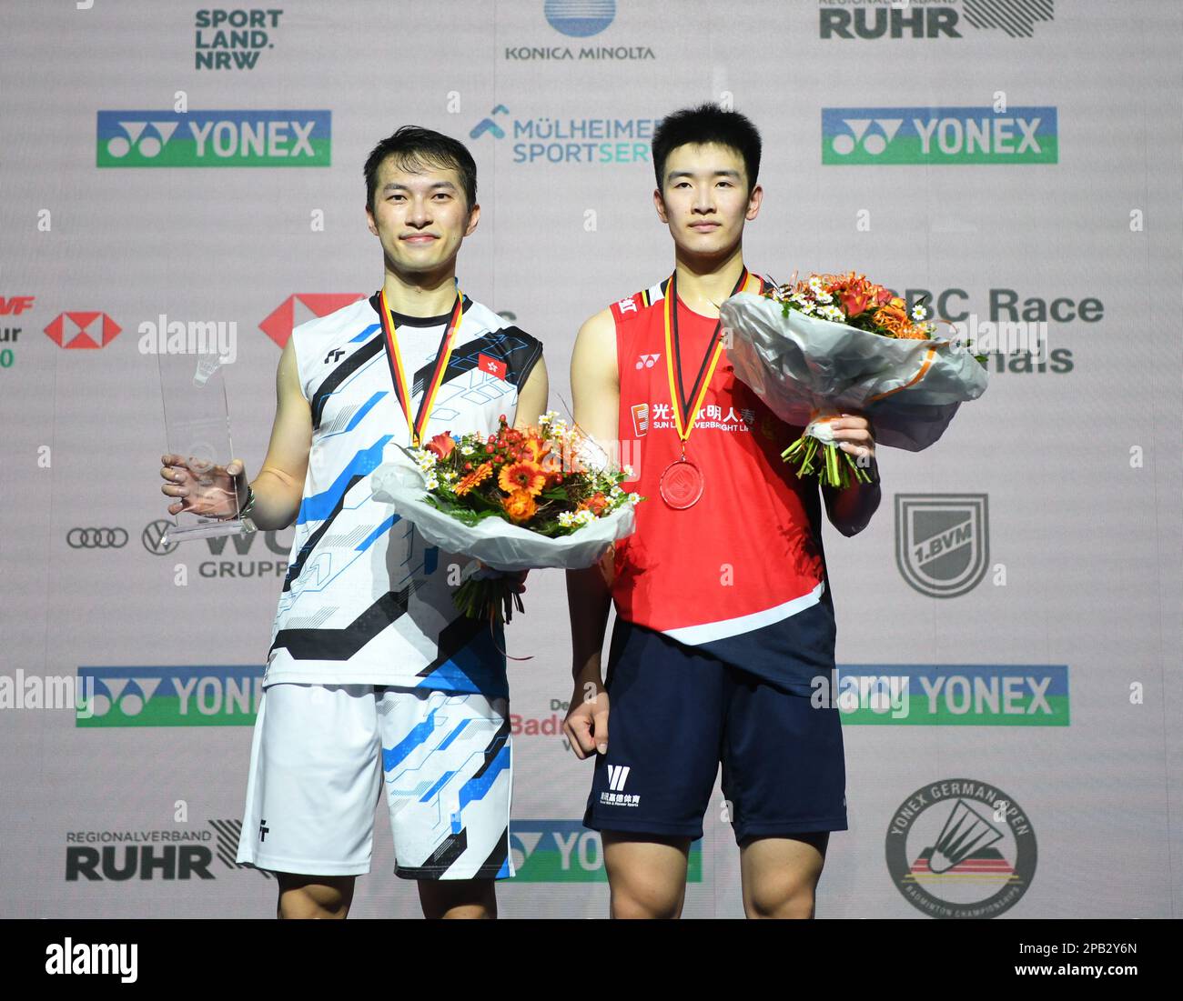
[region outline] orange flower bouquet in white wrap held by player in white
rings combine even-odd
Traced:
[[[554,410],[517,430],[500,417],[496,435],[441,434],[405,448],[411,463],[373,474],[374,496],[394,503],[431,545],[474,557],[455,592],[471,618],[508,622],[521,599],[492,571],[582,570],[605,558],[635,528],[621,487],[633,473],[614,469],[600,447]],[[484,565],[484,566],[481,566]]]

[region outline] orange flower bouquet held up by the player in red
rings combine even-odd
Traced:
[[[936,324],[918,304],[866,275],[813,274],[739,293],[722,308],[728,357],[736,376],[782,421],[804,431],[781,457],[797,476],[816,474],[846,487],[870,476],[838,448],[829,422],[842,410],[867,412],[878,444],[920,451],[949,427],[957,408],[987,386],[983,359],[933,338]]]

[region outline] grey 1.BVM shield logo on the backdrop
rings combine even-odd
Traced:
[[[955,598],[989,561],[985,494],[896,494],[896,564],[922,594]]]

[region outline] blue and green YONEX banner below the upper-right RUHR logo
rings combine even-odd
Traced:
[[[1054,108],[823,108],[825,165],[1056,163]]]

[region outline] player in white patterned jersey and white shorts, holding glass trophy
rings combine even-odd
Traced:
[[[364,173],[382,288],[292,331],[253,481],[235,459],[202,486],[166,455],[162,490],[174,514],[227,516],[234,489],[258,528],[296,524],[238,851],[277,873],[279,916],[345,916],[384,799],[425,916],[494,917],[493,880],[513,875],[504,636],[453,605],[470,560],[427,546],[370,474],[399,446],[492,434],[502,414],[536,423],[547,370],[537,339],[457,281],[480,217],[468,150],[405,126]]]

